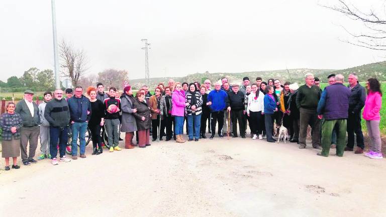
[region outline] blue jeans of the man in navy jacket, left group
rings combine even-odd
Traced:
[[[87,130],[87,122],[75,122],[71,125],[72,141],[71,141],[71,155],[76,156],[78,152],[78,145],[76,144],[78,137],[80,141],[80,154],[86,151],[86,140],[84,139]]]

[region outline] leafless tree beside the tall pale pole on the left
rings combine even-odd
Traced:
[[[80,77],[87,70],[86,56],[83,50],[75,50],[71,43],[62,40],[59,45],[62,73],[76,86]]]

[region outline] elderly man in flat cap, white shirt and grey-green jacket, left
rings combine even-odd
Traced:
[[[20,130],[20,150],[22,161],[25,166],[30,166],[31,163],[37,163],[34,159],[36,148],[38,147],[38,138],[40,132],[40,116],[39,107],[33,101],[34,92],[26,90],[24,99],[16,105],[16,113],[20,114],[23,120],[23,127]],[[27,145],[30,143],[29,154],[27,154]]]

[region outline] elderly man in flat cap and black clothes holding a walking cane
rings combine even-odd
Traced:
[[[232,85],[232,91],[228,92],[227,111],[231,113],[232,125],[233,125],[233,137],[237,137],[237,121],[240,127],[240,136],[245,138],[245,125],[244,125],[244,99],[245,95],[239,91],[239,84]]]

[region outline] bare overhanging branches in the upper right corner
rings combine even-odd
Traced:
[[[353,37],[352,40],[346,40],[345,42],[372,50],[386,50],[386,43],[384,42],[386,40],[386,15],[377,13],[373,9],[363,12],[354,5],[347,3],[347,1],[337,1],[339,3],[335,6],[322,6],[344,14],[349,19],[362,25],[363,29],[362,31],[350,31],[343,27]]]

